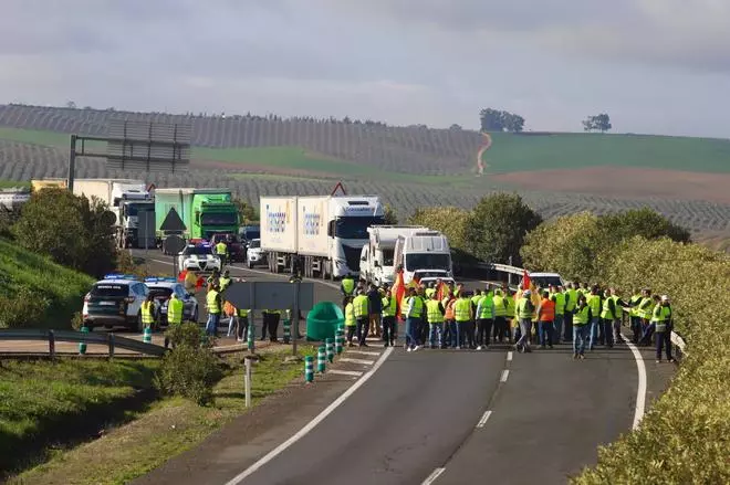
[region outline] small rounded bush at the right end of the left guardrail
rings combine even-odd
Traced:
[[[197,324],[173,326],[167,335],[175,348],[164,358],[155,386],[168,396],[181,396],[198,405],[213,402],[213,386],[222,372],[218,358]]]

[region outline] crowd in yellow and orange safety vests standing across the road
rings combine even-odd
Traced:
[[[663,350],[667,361],[674,361],[670,299],[653,295],[649,288],[625,296],[617,288],[587,283],[517,291],[488,284],[469,291],[461,283],[435,282],[409,285],[398,301],[398,288],[356,283],[348,276],[341,291],[350,347],[355,339],[367,347],[368,336],[395,346],[400,321],[409,352],[425,347],[484,350],[494,342],[531,352],[533,342],[541,349],[572,342],[573,359],[584,359],[586,350],[623,341],[626,318],[634,344],[649,346],[654,337],[657,362]]]

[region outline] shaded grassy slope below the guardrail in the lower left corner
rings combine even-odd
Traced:
[[[0,367],[0,476],[48,460],[106,422],[144,408],[156,360],[3,361]]]

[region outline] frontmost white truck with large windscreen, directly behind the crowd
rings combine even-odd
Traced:
[[[394,259],[395,267],[403,266],[403,280],[406,284],[414,278],[453,278],[449,240],[439,231],[416,231],[398,236]]]

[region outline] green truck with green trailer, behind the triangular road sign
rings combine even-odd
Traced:
[[[155,219],[158,244],[165,238],[163,222],[175,208],[186,226],[185,239],[210,240],[218,232],[238,233],[238,208],[230,189],[156,189]]]

